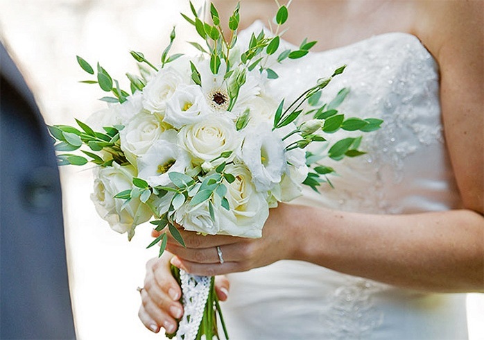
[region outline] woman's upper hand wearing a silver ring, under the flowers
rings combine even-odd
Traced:
[[[293,258],[295,206],[279,204],[271,209],[259,239],[225,235],[198,235],[180,228],[184,244],[168,238],[168,251],[176,255],[171,263],[196,275],[221,275],[266,266],[278,260]],[[223,263],[218,257],[221,250]]]

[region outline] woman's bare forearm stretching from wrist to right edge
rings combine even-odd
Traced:
[[[290,210],[294,260],[410,289],[484,291],[484,219],[475,212]]]

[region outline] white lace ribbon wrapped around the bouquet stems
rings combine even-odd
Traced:
[[[178,325],[178,340],[193,340],[198,334],[198,328],[203,318],[210,291],[210,277],[191,275],[180,270],[182,281],[184,314]]]

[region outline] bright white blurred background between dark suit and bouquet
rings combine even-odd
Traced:
[[[193,1],[196,7],[202,0]],[[172,51],[192,53],[184,41],[197,41],[180,12],[181,0],[0,0],[0,39],[17,61],[47,124],[74,125],[105,108],[105,94],[76,62],[100,62],[129,88],[124,74],[137,73],[130,50],[157,62],[176,25]],[[90,201],[92,171],[62,167],[64,223],[71,296],[78,339],[164,339],[146,330],[137,317],[144,265],[156,256],[150,224],[139,226],[130,243],[102,221]],[[484,340],[484,298],[469,294],[469,334]]]

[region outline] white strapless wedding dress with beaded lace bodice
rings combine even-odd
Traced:
[[[247,31],[261,28],[256,22]],[[334,189],[304,189],[295,203],[370,214],[459,207],[442,131],[438,65],[417,37],[388,33],[286,60],[274,68],[279,78],[272,86],[294,99],[344,64],[322,101],[349,87],[339,110],[384,123],[364,135],[366,155],[329,164],[338,172]],[[358,133],[335,137],[345,135]],[[297,261],[229,277],[223,313],[232,340],[467,339],[465,294],[400,289]]]

